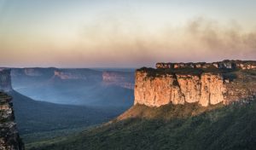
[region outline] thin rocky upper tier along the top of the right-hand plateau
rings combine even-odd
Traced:
[[[256,61],[218,61],[212,63],[206,62],[189,62],[189,63],[164,63],[159,62],[155,65],[156,68],[170,68],[170,69],[177,69],[177,68],[218,68],[218,69],[256,69]]]

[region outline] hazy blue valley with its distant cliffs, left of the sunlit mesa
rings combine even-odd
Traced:
[[[104,81],[103,72],[91,69],[2,70],[0,89],[13,98],[26,148],[108,122],[132,105],[133,89],[122,87],[134,83],[132,72],[108,71],[113,78],[107,73]]]

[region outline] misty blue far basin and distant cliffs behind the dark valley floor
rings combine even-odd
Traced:
[[[131,107],[134,71],[12,68],[13,88],[34,100],[67,105]]]

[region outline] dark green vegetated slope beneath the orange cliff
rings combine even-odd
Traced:
[[[255,124],[255,101],[208,108],[196,104],[135,106],[112,123],[31,149],[249,150],[256,147]]]

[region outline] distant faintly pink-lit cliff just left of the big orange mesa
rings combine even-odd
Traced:
[[[115,85],[125,89],[134,89],[133,72],[102,72],[104,85]]]

